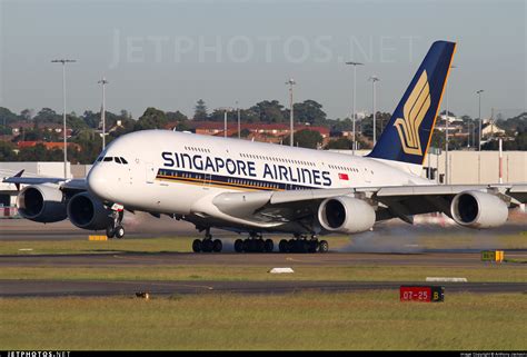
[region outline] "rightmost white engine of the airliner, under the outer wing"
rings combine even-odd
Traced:
[[[501,199],[481,191],[457,194],[450,205],[450,214],[458,225],[469,228],[499,227],[509,215]]]

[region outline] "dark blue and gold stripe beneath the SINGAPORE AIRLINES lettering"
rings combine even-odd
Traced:
[[[162,181],[182,182],[189,185],[210,185],[222,188],[243,189],[243,190],[266,190],[266,191],[285,191],[285,190],[308,190],[321,189],[320,187],[272,182],[266,180],[255,180],[248,178],[236,178],[231,176],[199,173],[183,170],[159,169],[156,179]]]

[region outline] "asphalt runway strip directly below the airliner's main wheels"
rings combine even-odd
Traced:
[[[507,250],[507,258],[526,259],[527,250]],[[193,254],[112,252],[82,255],[0,256],[0,267],[133,267],[133,266],[437,266],[481,267],[480,252],[418,254]],[[527,265],[526,269],[527,269]],[[507,269],[507,265],[503,268]]]

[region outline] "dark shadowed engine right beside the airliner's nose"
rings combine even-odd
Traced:
[[[82,229],[106,229],[112,222],[111,209],[89,192],[73,196],[68,202],[68,217],[70,221]]]

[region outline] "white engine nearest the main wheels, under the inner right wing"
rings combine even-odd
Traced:
[[[357,234],[374,227],[374,208],[351,197],[327,198],[318,208],[318,220],[324,229],[342,234]]]

